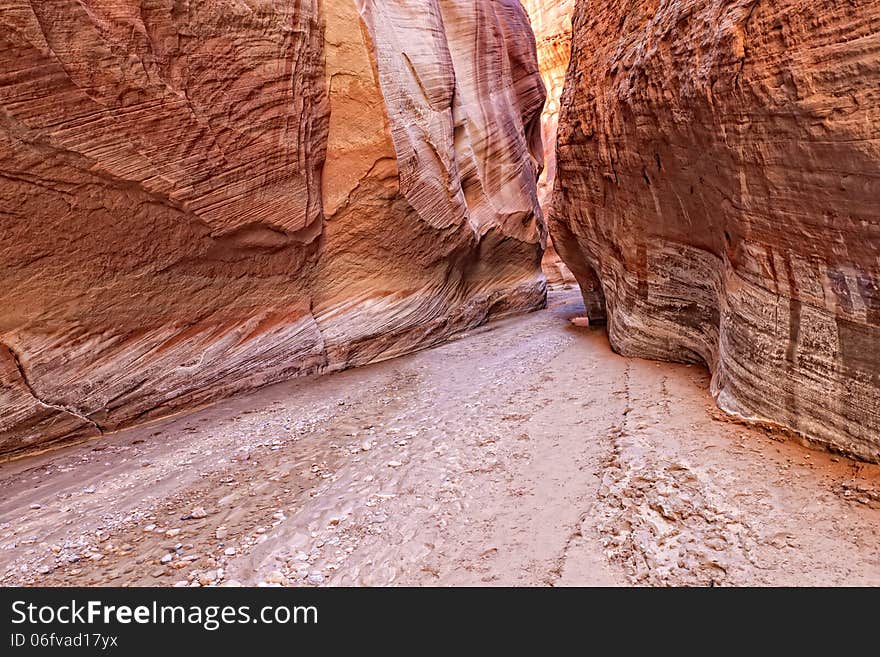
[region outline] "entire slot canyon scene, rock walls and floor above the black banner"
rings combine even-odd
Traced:
[[[0,0],[0,583],[880,585],[856,4]]]

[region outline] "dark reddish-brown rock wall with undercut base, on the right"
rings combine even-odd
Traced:
[[[880,460],[880,4],[580,1],[557,250],[615,349]]]

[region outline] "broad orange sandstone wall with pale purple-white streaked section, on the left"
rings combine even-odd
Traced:
[[[0,452],[543,304],[518,0],[0,9]]]

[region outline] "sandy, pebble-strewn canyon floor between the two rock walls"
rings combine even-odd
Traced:
[[[0,465],[3,585],[880,584],[880,467],[547,310]]]

